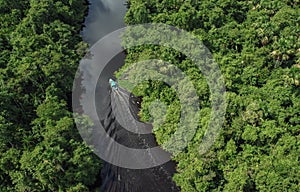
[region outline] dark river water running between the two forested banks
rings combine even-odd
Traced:
[[[123,20],[126,7],[124,0],[89,0],[89,2],[89,12],[82,35],[84,41],[92,46],[105,35],[125,26]],[[136,135],[124,130],[111,113],[113,101],[110,98],[108,79],[112,78],[114,72],[124,64],[124,58],[125,54],[123,53],[115,56],[99,76],[96,88],[97,114],[103,122],[108,122],[104,123],[104,127],[107,132],[112,133],[111,137],[117,142],[133,148],[143,148],[144,146],[139,146],[141,137],[136,137]],[[138,99],[132,97],[133,102],[131,101],[131,103],[137,103],[134,101]],[[138,111],[137,104],[132,104],[130,107],[134,113]],[[148,134],[142,139],[148,142],[147,146],[157,145],[153,134]],[[102,185],[99,190],[109,192],[179,191],[179,188],[172,181],[175,166],[174,162],[169,161],[148,169],[128,169],[104,162],[101,171]]]

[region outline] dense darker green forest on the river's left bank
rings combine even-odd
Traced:
[[[101,163],[71,91],[84,0],[0,0],[0,191],[89,191]]]

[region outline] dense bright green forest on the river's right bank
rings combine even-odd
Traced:
[[[226,81],[226,120],[204,155],[199,145],[210,117],[210,92],[193,63],[167,47],[127,50],[126,65],[147,59],[171,62],[192,79],[201,119],[179,155],[174,180],[182,191],[300,191],[300,8],[298,0],[131,0],[128,25],[166,23],[193,33],[211,50]],[[122,70],[120,71],[120,73]],[[120,74],[118,74],[120,75]],[[177,128],[179,100],[163,82],[135,88],[141,118],[156,99],[167,107],[155,127],[160,144]]]

